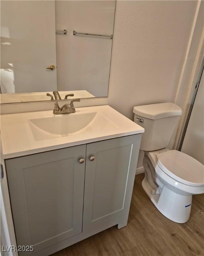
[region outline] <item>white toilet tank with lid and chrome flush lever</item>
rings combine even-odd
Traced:
[[[181,108],[174,103],[136,106],[133,112],[135,123],[145,128],[140,146],[145,151],[165,148],[182,114]]]

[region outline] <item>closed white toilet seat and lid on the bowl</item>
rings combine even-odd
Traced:
[[[157,154],[156,164],[174,180],[188,186],[204,186],[204,166],[193,157],[169,150]]]

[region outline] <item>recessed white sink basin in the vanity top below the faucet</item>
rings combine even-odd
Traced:
[[[29,119],[36,141],[97,132],[101,128],[114,129],[117,126],[98,112],[52,115]]]

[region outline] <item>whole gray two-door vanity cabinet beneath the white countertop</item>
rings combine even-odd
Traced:
[[[127,225],[140,141],[137,134],[6,160],[17,244],[46,256]]]

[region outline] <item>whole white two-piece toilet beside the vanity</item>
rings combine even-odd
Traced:
[[[184,223],[190,217],[192,195],[204,193],[204,166],[193,157],[165,148],[182,110],[173,103],[136,106],[134,121],[145,128],[145,178],[142,187],[168,219]]]

